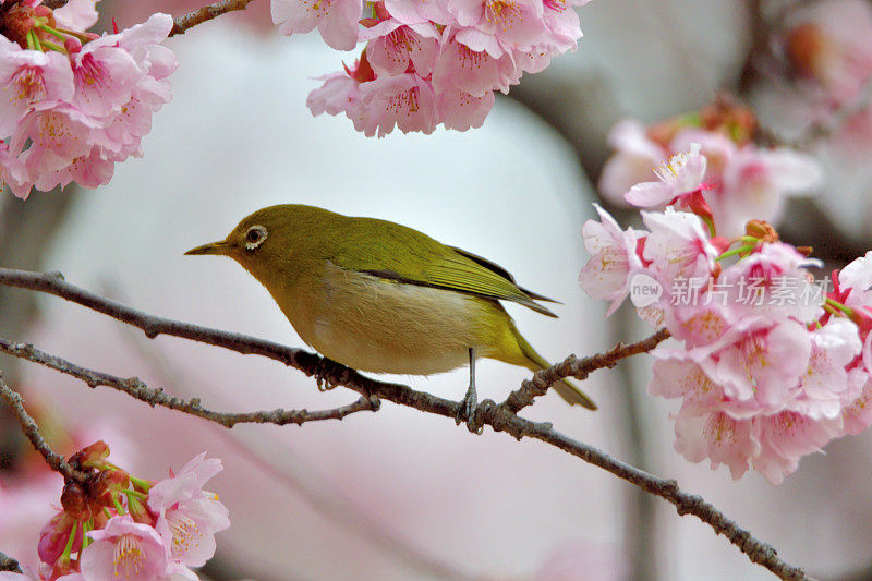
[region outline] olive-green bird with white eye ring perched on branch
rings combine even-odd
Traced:
[[[302,204],[258,209],[218,242],[185,255],[237,261],[272,295],[300,338],[323,356],[361,372],[431,375],[469,364],[457,422],[471,431],[475,361],[531,371],[549,366],[500,301],[556,317],[502,267],[388,220]],[[538,302],[537,302],[538,301]],[[574,384],[553,386],[570,404],[595,410]]]

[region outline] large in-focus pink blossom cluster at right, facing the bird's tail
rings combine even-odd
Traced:
[[[592,258],[579,282],[610,300],[609,313],[630,296],[643,319],[670,331],[652,352],[649,391],[681,400],[676,449],[726,464],[735,479],[753,467],[778,484],[802,456],[872,424],[872,253],[827,293],[808,270],[820,263],[764,221],[713,237],[698,149],[627,193],[692,211],[642,211],[646,230],[622,230],[597,206],[600,221],[582,229]]]

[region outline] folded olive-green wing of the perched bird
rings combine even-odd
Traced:
[[[390,227],[386,227],[388,230],[386,234],[395,233],[390,232],[393,227],[398,225],[390,223]],[[415,230],[412,230],[415,235],[411,235],[404,227],[399,228],[403,230],[398,232],[400,235],[383,238],[383,241],[392,239],[396,243],[388,242],[373,247],[361,241],[353,259],[344,259],[342,255],[337,255],[332,262],[341,268],[387,280],[513,301],[543,315],[557,316],[534,302],[534,300],[556,301],[522,289],[516,285],[505,268],[475,254],[446,246]],[[349,235],[346,244],[354,238],[356,237]]]

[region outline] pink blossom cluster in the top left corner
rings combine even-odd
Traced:
[[[152,114],[170,100],[167,14],[116,34],[85,31],[96,0],[51,10],[0,5],[0,180],[26,198],[75,181],[108,183],[114,164],[141,156]]]

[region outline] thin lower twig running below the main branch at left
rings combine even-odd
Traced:
[[[65,359],[57,355],[51,355],[44,351],[36,349],[34,346],[22,342],[13,342],[0,338],[0,351],[14,355],[16,358],[25,359],[55,371],[71,375],[77,379],[82,379],[88,387],[95,388],[98,386],[111,387],[119,391],[123,391],[129,396],[148,403],[153,408],[161,406],[171,410],[177,410],[190,415],[203,417],[210,422],[221,424],[225,427],[233,427],[237,424],[254,423],[254,424],[296,424],[302,425],[306,422],[322,422],[324,420],[342,420],[346,415],[359,411],[377,411],[380,401],[376,396],[361,397],[354,403],[334,408],[330,410],[308,411],[308,410],[270,410],[257,412],[238,412],[225,413],[216,412],[204,408],[199,403],[199,398],[192,398],[185,400],[170,396],[162,389],[154,389],[145,385],[138,377],[117,377],[108,373],[102,373],[87,367],[76,365]]]

